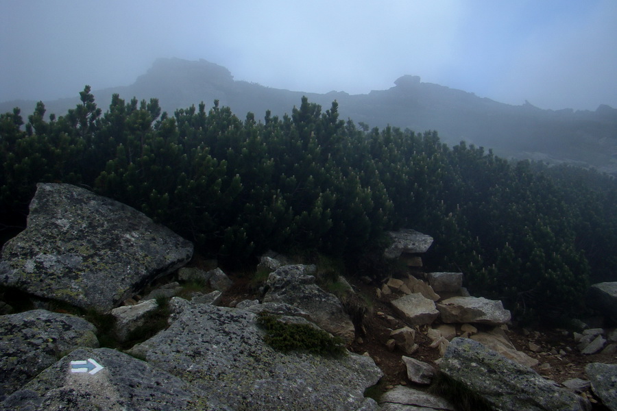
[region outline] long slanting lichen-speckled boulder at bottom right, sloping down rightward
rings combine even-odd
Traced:
[[[439,369],[497,411],[588,410],[578,395],[468,338],[450,342]]]

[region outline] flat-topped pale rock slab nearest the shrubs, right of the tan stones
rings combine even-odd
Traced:
[[[452,297],[437,303],[437,310],[444,323],[505,324],[510,321],[510,312],[501,301],[484,297]]]

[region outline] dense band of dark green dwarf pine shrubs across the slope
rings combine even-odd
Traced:
[[[303,98],[282,117],[244,120],[215,101],[162,112],[158,100],[97,108],[90,88],[45,120],[0,115],[1,223],[25,225],[38,182],[127,203],[195,242],[247,261],[267,249],[345,258],[350,273],[389,229],[435,237],[433,270],[517,312],[576,310],[617,272],[617,182],[595,171],[509,162],[437,132],[356,127]],[[18,218],[21,217],[21,220]],[[16,223],[17,221],[17,223]],[[355,262],[356,264],[352,264]]]

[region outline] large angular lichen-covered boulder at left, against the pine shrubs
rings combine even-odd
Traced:
[[[38,184],[27,228],[3,247],[0,283],[108,312],[192,255],[191,242],[133,208],[69,184]]]

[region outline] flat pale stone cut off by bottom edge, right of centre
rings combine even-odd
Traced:
[[[445,399],[406,386],[392,387],[381,396],[379,406],[382,411],[455,411]]]

